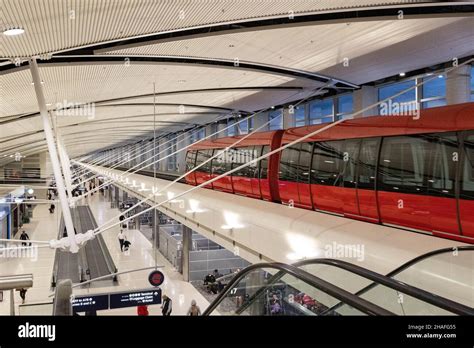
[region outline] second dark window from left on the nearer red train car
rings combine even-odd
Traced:
[[[311,183],[340,186],[344,141],[327,141],[314,144]]]

